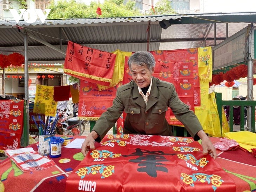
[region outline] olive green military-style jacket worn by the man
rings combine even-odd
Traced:
[[[152,77],[147,105],[134,81],[117,89],[113,106],[101,115],[93,128],[100,136],[96,141],[102,140],[123,111],[127,114],[124,120],[124,134],[172,136],[171,127],[165,118],[167,107],[171,108],[191,137],[198,140],[196,133],[202,130],[202,126],[194,112],[178,98],[172,83]]]

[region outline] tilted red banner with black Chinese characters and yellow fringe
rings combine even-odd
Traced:
[[[64,72],[93,83],[102,84],[105,82],[106,86],[109,86],[112,82],[115,59],[116,54],[69,41]]]

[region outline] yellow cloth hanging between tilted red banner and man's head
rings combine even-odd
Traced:
[[[120,81],[123,81],[123,71],[124,71],[124,60],[125,56],[131,56],[132,52],[122,52],[119,49],[112,52],[116,54],[116,60],[115,60],[115,67],[114,72],[112,76],[112,82],[110,83],[109,87],[104,85],[98,85],[99,91],[106,90],[110,87],[115,87]]]

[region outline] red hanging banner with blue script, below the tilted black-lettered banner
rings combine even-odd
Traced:
[[[95,121],[111,107],[116,95],[116,88],[99,91],[97,84],[80,81],[78,117]]]

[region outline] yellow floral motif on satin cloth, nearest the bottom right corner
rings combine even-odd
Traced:
[[[200,181],[201,183],[208,183],[208,185],[212,184],[213,190],[216,191],[217,187],[220,187],[224,181],[220,176],[215,174],[204,174],[204,173],[193,173],[192,175],[188,175],[186,173],[181,173],[181,180],[190,185],[191,187],[195,186],[195,183]]]

